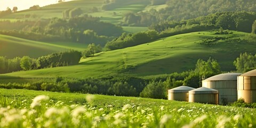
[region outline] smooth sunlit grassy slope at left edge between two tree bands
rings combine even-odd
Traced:
[[[6,56],[7,58],[23,57],[25,55],[37,58],[57,51],[65,51],[69,49],[83,51],[85,48],[85,44],[79,43],[37,42],[28,39],[0,35],[0,56]]]

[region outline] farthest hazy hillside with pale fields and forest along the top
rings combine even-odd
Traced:
[[[12,13],[2,19],[37,20],[63,18],[65,10],[80,8],[83,14],[99,17],[101,21],[122,26],[150,26],[162,21],[180,21],[202,17],[216,12],[255,12],[256,2],[218,0],[83,0],[47,5],[40,9],[29,9]]]

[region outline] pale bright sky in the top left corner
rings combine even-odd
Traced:
[[[67,2],[68,0],[66,0]],[[69,0],[70,1],[70,0]],[[6,10],[7,7],[12,9],[14,6],[18,7],[18,11],[29,9],[34,5],[45,6],[49,4],[56,4],[58,0],[0,0],[0,11]]]

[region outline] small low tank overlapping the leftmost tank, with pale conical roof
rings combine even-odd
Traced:
[[[189,102],[209,103],[213,105],[218,105],[218,90],[209,89],[207,87],[199,87],[198,89],[189,91],[188,94]]]

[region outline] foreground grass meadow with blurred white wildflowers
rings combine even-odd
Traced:
[[[251,108],[135,97],[0,89],[0,105],[1,127],[256,126]]]

